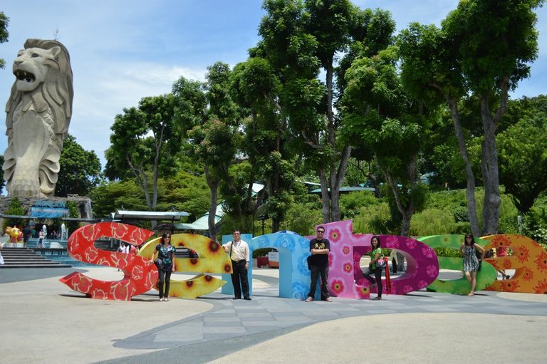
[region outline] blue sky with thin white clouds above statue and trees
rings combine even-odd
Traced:
[[[457,0],[354,0],[360,8],[391,12],[397,30],[413,21],[440,24]],[[180,76],[204,80],[217,61],[235,66],[259,41],[261,0],[4,0],[9,41],[0,44],[0,103],[9,98],[11,66],[27,38],[53,39],[71,55],[73,116],[68,130],[105,166],[110,126],[123,108],[146,96],[170,93]],[[547,7],[538,10],[539,56],[531,77],[511,98],[546,93]],[[1,117],[2,130],[5,114]],[[7,137],[0,135],[0,152]]]

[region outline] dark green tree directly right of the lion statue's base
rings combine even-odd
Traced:
[[[67,194],[87,196],[101,179],[100,160],[91,150],[84,150],[75,137],[68,135],[63,143],[61,170],[55,187],[55,195],[66,197]]]

